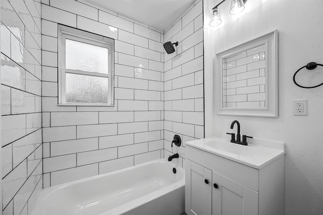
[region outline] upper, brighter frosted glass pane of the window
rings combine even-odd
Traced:
[[[66,39],[66,69],[108,73],[108,49]]]

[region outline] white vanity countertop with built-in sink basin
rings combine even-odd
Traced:
[[[261,169],[285,152],[285,143],[253,138],[252,143],[240,145],[218,137],[186,142],[186,145],[233,160],[252,168]]]

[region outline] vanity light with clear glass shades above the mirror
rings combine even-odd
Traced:
[[[219,3],[218,5],[214,6],[212,8],[212,13],[213,13],[213,17],[209,23],[209,25],[211,27],[216,27],[218,25],[221,24],[222,20],[221,20],[221,16],[220,16],[220,12],[219,12],[219,6],[224,3],[227,0],[223,0],[221,3]],[[230,11],[229,13],[231,15],[236,15],[239,14],[240,12],[243,11],[244,9],[244,5],[247,2],[247,0],[231,0],[231,6],[230,6]]]

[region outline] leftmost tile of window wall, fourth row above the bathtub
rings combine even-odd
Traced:
[[[76,126],[42,128],[43,141],[52,142],[76,139]]]

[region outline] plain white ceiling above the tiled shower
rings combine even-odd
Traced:
[[[194,0],[86,0],[92,4],[165,31]]]

